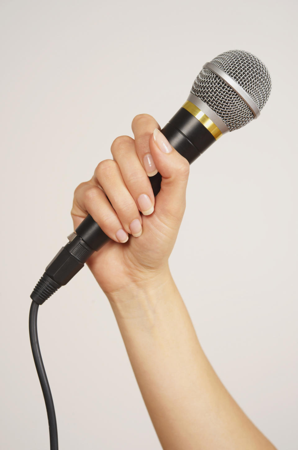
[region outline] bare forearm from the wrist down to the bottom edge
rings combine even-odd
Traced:
[[[169,271],[108,298],[164,450],[274,449],[213,371]]]

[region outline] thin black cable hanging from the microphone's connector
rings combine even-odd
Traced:
[[[38,378],[40,381],[40,386],[42,393],[44,394],[45,407],[47,409],[48,421],[49,421],[49,435],[50,435],[50,450],[58,450],[58,432],[57,432],[57,422],[55,415],[55,408],[53,403],[53,398],[51,390],[49,387],[49,382],[44,369],[44,363],[42,362],[40,347],[38,343],[37,335],[37,312],[39,305],[32,301],[30,314],[29,314],[29,334],[30,343],[33,354],[33,359],[35,362],[35,367],[37,370]]]

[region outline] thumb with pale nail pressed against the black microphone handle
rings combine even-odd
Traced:
[[[180,222],[185,210],[189,162],[157,128],[149,139],[149,147],[156,169],[162,176],[154,211],[160,217],[172,217]]]

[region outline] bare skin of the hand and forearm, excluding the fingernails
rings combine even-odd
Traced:
[[[165,138],[154,129],[160,126],[153,117],[134,117],[134,139],[116,138],[113,159],[100,162],[75,191],[75,229],[89,213],[111,238],[87,264],[111,303],[162,448],[273,450],[209,364],[171,276],[168,260],[185,211],[189,163],[173,148],[160,151]],[[143,162],[148,153],[162,175],[156,198]],[[144,193],[154,205],[149,215],[138,204]],[[134,219],[142,223],[139,237],[129,228]],[[117,239],[119,229],[127,242]]]

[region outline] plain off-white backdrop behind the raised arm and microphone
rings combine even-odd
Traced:
[[[170,269],[228,391],[297,449],[296,18],[294,0],[0,1],[1,449],[49,448],[29,296],[67,243],[74,189],[136,114],[164,126],[229,49],[262,59],[271,96],[191,166]],[[38,331],[60,449],[161,449],[88,268],[40,307]]]

